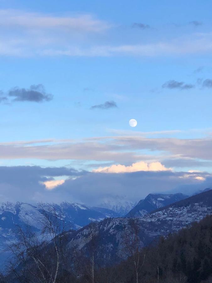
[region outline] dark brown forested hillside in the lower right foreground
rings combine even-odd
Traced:
[[[144,264],[143,261],[139,264],[142,265],[139,282],[144,278],[146,283],[211,282],[211,239],[212,215],[174,235],[170,234],[166,239],[162,238],[156,246],[144,248],[139,254],[141,259],[145,254]],[[109,271],[106,269],[100,269],[98,274],[100,278],[106,278],[105,283],[111,279],[117,283],[136,282],[132,258],[112,266]]]

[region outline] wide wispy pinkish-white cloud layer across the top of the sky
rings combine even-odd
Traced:
[[[200,22],[192,21],[192,25]],[[0,56],[173,56],[212,51],[211,33],[187,34],[178,38],[148,39],[138,44],[117,44],[109,34],[116,25],[90,14],[52,15],[19,10],[0,10]],[[136,22],[137,29],[149,25]],[[107,32],[102,45],[101,36]],[[89,35],[92,34],[92,40]]]

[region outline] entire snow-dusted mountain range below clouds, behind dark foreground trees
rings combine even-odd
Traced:
[[[109,205],[109,203],[107,203]],[[129,205],[129,203],[127,203]],[[132,208],[117,205],[115,210],[104,207],[89,207],[79,203],[1,203],[0,204],[0,263],[5,260],[7,245],[17,239],[17,226],[29,224],[38,233],[41,231],[43,211],[55,210],[62,213],[68,229],[69,241],[78,244],[89,232],[90,222],[96,222],[102,236],[102,248],[118,260],[118,251],[122,247],[124,227],[129,217],[137,217],[140,225],[141,245],[146,246],[159,236],[166,236],[193,221],[199,221],[212,214],[212,190],[188,197],[177,194],[149,194]],[[113,208],[113,204],[109,207]],[[119,213],[118,213],[119,212]],[[123,217],[123,213],[126,217]],[[82,241],[85,242],[85,241]],[[67,244],[68,245],[68,244]],[[67,246],[68,248],[68,246]]]

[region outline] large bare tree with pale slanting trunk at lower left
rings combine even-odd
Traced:
[[[19,282],[56,283],[65,221],[63,214],[54,208],[43,210],[43,216],[40,235],[30,225],[18,227],[18,241],[9,246],[13,260],[8,268]]]

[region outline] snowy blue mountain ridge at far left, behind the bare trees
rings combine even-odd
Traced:
[[[7,245],[17,239],[17,229],[30,225],[33,230],[42,228],[43,210],[63,213],[68,228],[79,229],[91,221],[101,221],[106,217],[119,216],[109,209],[90,208],[84,204],[63,202],[60,205],[50,203],[0,203],[0,264],[4,262]]]

